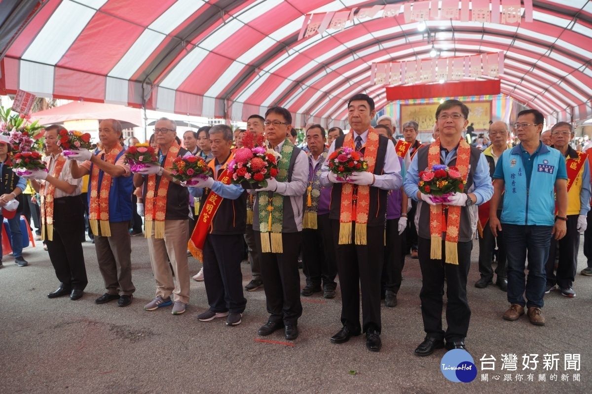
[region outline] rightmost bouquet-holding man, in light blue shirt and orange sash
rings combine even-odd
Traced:
[[[485,203],[493,194],[487,159],[462,138],[462,131],[469,123],[468,116],[469,109],[458,100],[446,100],[438,106],[439,138],[417,151],[403,184],[407,196],[418,201],[415,221],[422,269],[419,297],[426,337],[415,350],[417,356],[429,356],[442,347],[466,350],[465,337],[471,320],[466,278],[471,265],[472,237],[477,227],[473,206]],[[455,171],[458,174],[455,176],[466,181],[463,191],[444,199],[421,193],[418,184],[428,179],[424,175],[420,178],[419,169],[437,170],[439,167],[434,168],[435,165],[448,166],[451,175]],[[445,280],[446,331],[442,328]]]

